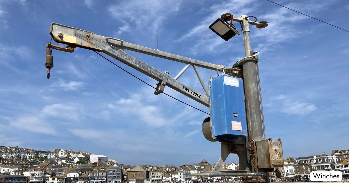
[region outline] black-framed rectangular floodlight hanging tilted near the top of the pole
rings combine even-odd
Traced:
[[[239,32],[236,30],[236,28],[222,18],[218,18],[208,28],[225,41],[228,41],[235,35],[239,35]]]

